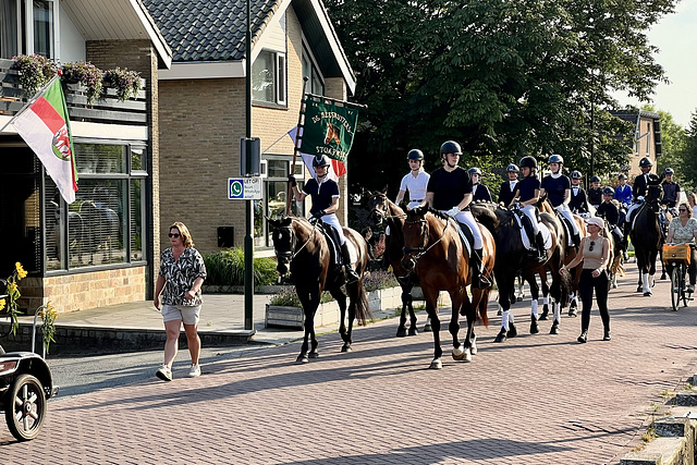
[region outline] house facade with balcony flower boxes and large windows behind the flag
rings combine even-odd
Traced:
[[[107,88],[91,105],[80,84],[64,93],[78,172],[66,204],[12,125],[0,132],[0,276],[29,272],[21,308],[58,311],[144,301],[159,257],[158,69],[171,51],[140,0],[0,0],[0,127],[24,107],[12,58],[90,61],[137,71],[142,90],[120,101]],[[151,293],[151,292],[150,292]]]

